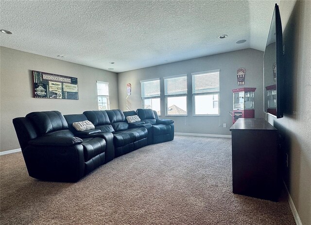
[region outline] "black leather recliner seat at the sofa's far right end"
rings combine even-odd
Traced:
[[[151,128],[148,129],[152,138],[152,143],[161,143],[174,139],[174,121],[170,119],[159,119],[156,111],[152,109],[137,109],[138,117],[145,123],[150,123]]]

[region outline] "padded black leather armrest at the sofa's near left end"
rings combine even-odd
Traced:
[[[68,137],[68,136],[54,136],[54,137],[40,137],[31,139],[28,141],[29,145],[33,146],[55,146],[55,147],[61,147],[61,146],[72,146],[76,144],[81,144],[83,140],[81,138],[77,137]]]

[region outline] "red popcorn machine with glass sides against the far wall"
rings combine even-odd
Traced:
[[[242,87],[233,89],[232,121],[239,118],[255,118],[254,92],[256,87]]]

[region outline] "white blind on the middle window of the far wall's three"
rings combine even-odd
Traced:
[[[187,74],[164,77],[165,96],[187,94]]]

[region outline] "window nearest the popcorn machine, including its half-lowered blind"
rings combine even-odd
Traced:
[[[219,115],[219,69],[191,75],[193,115]]]

